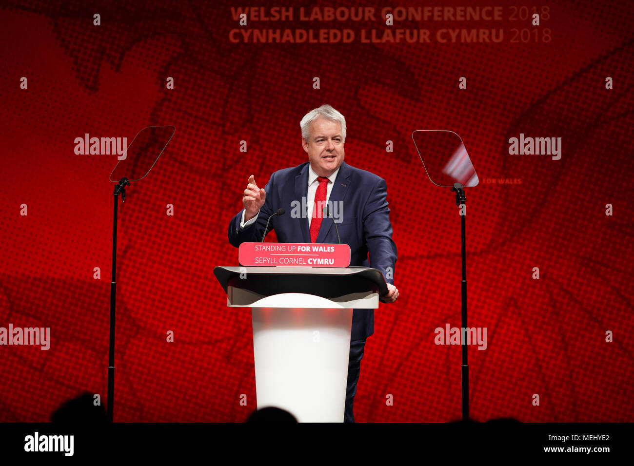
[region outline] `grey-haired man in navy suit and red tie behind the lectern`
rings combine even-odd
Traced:
[[[337,243],[336,221],[341,242],[350,246],[350,265],[378,269],[389,290],[381,301],[396,301],[396,245],[385,180],[344,162],[346,119],[330,105],[308,112],[300,127],[308,162],[274,172],[264,189],[251,175],[243,193],[244,209],[229,224],[229,241],[235,247],[261,241],[266,221],[280,207],[285,214],[273,217],[268,231],[275,230],[281,243]],[[327,214],[323,213],[324,205],[328,206]],[[354,422],[353,402],[363,348],[373,332],[374,310],[354,309],[345,422]]]

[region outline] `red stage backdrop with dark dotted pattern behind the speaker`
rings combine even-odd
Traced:
[[[630,2],[499,1],[499,21],[392,26],[429,29],[429,43],[361,42],[361,30],[390,28],[384,6],[406,3],[313,5],[370,6],[376,18],[307,22],[294,5],[293,20],[240,26],[228,3],[1,7],[0,327],[50,327],[51,348],[0,346],[0,420],[46,421],[85,390],[107,401],[117,160],[76,155],[74,139],[131,141],[168,124],[174,138],[119,209],[115,420],[245,420],[256,408],[250,312],[226,307],[212,270],[237,263],[227,228],[247,178],[264,186],[306,161],[299,120],[322,103],[346,116],[346,162],[387,181],[399,252],[401,297],[375,311],[356,420],[460,417],[460,347],[434,344],[436,327],[460,326],[460,221],[452,193],[425,175],[415,129],[460,134],[481,180],[467,193],[469,324],[488,328],[487,349],[470,350],[472,417],[632,420]],[[230,40],[234,29],[322,28],[355,39]],[[439,41],[448,29],[501,29],[503,40]],[[561,159],[510,155],[520,133],[562,138]]]

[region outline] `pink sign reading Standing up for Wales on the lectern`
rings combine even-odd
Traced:
[[[242,243],[243,266],[347,267],[350,247],[337,243]]]

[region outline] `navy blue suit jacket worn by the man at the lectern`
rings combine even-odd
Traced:
[[[306,215],[297,205],[306,198],[308,190],[309,162],[282,169],[271,174],[266,191],[266,200],[255,223],[240,231],[242,210],[231,219],[229,241],[235,247],[243,242],[262,240],[269,216],[283,207],[285,214],[271,219],[268,231],[275,230],[281,243],[310,243],[310,231]],[[329,202],[342,201],[342,216],[330,207],[337,219],[341,242],[350,246],[350,265],[373,267],[380,271],[385,282],[394,284],[396,244],[392,241],[392,224],[387,207],[387,184],[379,176],[351,167],[343,162],[333,183]],[[303,207],[304,209],[306,207]],[[267,233],[268,233],[267,231]],[[324,217],[317,243],[337,243],[333,219]],[[368,261],[369,256],[369,261]],[[391,273],[388,273],[391,268]],[[354,309],[351,340],[364,340],[374,332],[374,310]]]

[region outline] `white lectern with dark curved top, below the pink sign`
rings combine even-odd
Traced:
[[[216,267],[230,307],[251,307],[257,407],[343,422],[353,309],[387,293],[366,267]]]

